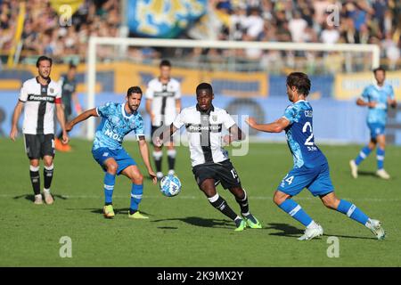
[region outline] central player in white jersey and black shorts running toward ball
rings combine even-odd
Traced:
[[[212,86],[201,83],[196,88],[198,104],[185,108],[176,117],[169,129],[155,138],[155,144],[168,142],[169,137],[182,126],[186,127],[189,149],[191,152],[192,172],[201,191],[210,204],[231,218],[236,225],[235,231],[243,231],[247,226],[260,229],[258,219],[250,214],[248,194],[242,188],[240,177],[228,158],[228,152],[222,148],[222,142],[231,143],[245,139],[245,134],[235,124],[226,110],[214,107]],[[229,135],[223,136],[223,126]],[[235,197],[241,208],[241,216],[235,214],[225,199],[218,195],[216,186],[221,183]]]

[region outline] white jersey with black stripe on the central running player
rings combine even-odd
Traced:
[[[202,112],[198,105],[188,107],[181,110],[173,124],[186,128],[192,167],[228,159],[228,152],[222,148],[222,131],[223,126],[228,130],[235,122],[226,110],[213,105],[209,112]]]

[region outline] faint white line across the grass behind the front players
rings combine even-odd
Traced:
[[[20,197],[21,195],[10,195],[10,194],[0,194],[0,198],[14,198],[14,197]],[[57,196],[59,196],[59,199],[102,199],[102,195],[57,195],[55,194],[55,198],[57,199]],[[225,195],[227,196],[227,195]],[[116,199],[128,199],[130,197],[130,194],[127,194],[127,196],[122,196],[122,195],[113,195],[113,198]],[[168,197],[165,197],[163,195],[146,195],[143,194],[143,199],[168,199]],[[203,199],[203,197],[199,196],[191,196],[191,195],[178,195],[174,197],[174,199]],[[250,201],[252,199],[273,199],[272,195],[266,195],[266,196],[250,196]],[[316,200],[318,201],[319,199],[317,197],[295,197],[293,198],[294,200]],[[348,200],[358,200],[358,201],[366,201],[366,202],[398,202],[401,201],[401,199],[383,199],[383,198],[343,198],[341,199],[348,199]]]

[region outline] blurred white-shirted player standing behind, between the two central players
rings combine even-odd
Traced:
[[[162,126],[169,126],[181,110],[181,85],[170,77],[171,63],[160,62],[160,77],[151,79],[146,90],[146,111],[151,116],[151,136]],[[153,141],[153,140],[152,140]],[[174,175],[176,164],[176,150],[172,140],[168,148],[168,175]],[[161,161],[163,151],[161,147],[153,144],[153,159],[156,165],[157,177],[163,177]]]

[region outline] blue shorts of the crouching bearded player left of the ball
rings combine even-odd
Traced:
[[[127,167],[136,165],[135,160],[132,159],[129,156],[128,152],[123,148],[119,150],[110,150],[109,148],[98,148],[96,150],[92,150],[92,155],[94,156],[94,160],[96,160],[97,163],[99,163],[104,172],[106,172],[106,169],[104,167],[104,161],[110,158],[116,160],[119,166],[117,168],[117,175],[120,175],[121,171],[123,171]]]

